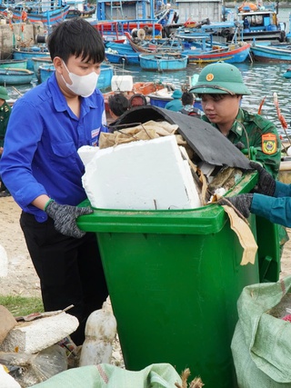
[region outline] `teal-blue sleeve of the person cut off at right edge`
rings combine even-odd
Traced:
[[[291,227],[291,184],[276,181],[275,196],[254,194],[251,212],[274,224]]]

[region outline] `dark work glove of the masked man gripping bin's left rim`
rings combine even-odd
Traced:
[[[69,237],[81,238],[85,232],[81,231],[75,220],[79,215],[91,214],[91,207],[76,207],[69,204],[56,204],[54,200],[45,204],[45,213],[55,221],[55,230]]]

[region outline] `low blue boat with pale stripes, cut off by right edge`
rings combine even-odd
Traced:
[[[251,55],[259,62],[291,62],[291,45],[255,42],[251,45]]]

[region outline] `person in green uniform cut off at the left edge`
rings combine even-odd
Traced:
[[[9,95],[4,86],[0,86],[0,163],[1,155],[3,154],[4,139],[8,120],[11,113],[11,107],[6,103],[6,100],[9,99]],[[3,183],[0,177],[0,197],[9,196],[10,193],[7,190],[5,184]]]

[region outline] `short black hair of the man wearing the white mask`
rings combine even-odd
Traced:
[[[67,63],[70,55],[99,64],[105,60],[102,36],[82,18],[74,18],[56,25],[48,36],[47,47],[52,60],[59,56]]]

